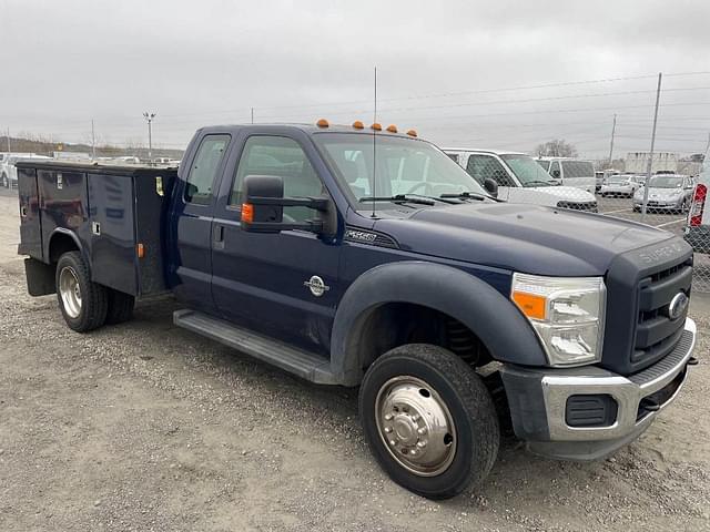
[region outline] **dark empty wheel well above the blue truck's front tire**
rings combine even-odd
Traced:
[[[357,357],[364,372],[377,357],[405,344],[443,347],[474,367],[491,360],[484,342],[459,320],[410,303],[387,303],[361,316],[354,324],[347,351]]]

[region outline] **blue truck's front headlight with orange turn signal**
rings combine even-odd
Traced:
[[[601,360],[606,296],[601,277],[513,275],[510,298],[540,338],[550,366]]]

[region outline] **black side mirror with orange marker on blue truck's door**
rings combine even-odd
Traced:
[[[284,181],[277,175],[247,175],[242,191],[243,231],[281,233],[302,229],[323,236],[335,236],[337,216],[328,197],[284,197]],[[284,207],[307,207],[315,211],[313,219],[284,222]]]

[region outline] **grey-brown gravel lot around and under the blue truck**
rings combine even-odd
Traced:
[[[710,301],[678,401],[604,462],[505,440],[488,481],[443,503],[375,466],[352,390],[318,388],[176,329],[170,299],[71,332],[23,285],[0,197],[0,530],[710,530]]]

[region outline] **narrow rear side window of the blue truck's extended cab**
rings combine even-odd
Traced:
[[[212,191],[220,163],[226,153],[230,135],[207,135],[200,143],[185,186],[185,202],[197,205],[212,203]]]

